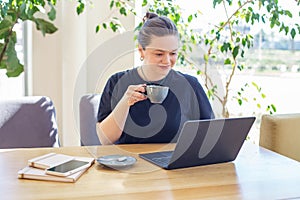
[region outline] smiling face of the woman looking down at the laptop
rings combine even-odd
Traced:
[[[144,58],[144,66],[151,67],[157,74],[167,75],[177,60],[178,37],[154,36],[145,50],[139,47],[139,51]]]

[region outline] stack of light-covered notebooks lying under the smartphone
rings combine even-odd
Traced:
[[[63,175],[52,175],[46,170],[72,160],[88,162],[80,171]],[[18,171],[18,178],[59,182],[76,182],[77,179],[94,163],[94,158],[74,157],[65,154],[49,153],[28,160],[28,166]]]

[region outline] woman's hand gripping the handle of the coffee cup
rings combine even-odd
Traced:
[[[128,86],[123,98],[125,98],[129,106],[147,99],[146,95],[143,94],[145,92],[145,87],[146,84]]]

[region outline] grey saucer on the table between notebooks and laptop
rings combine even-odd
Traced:
[[[97,162],[110,168],[124,168],[134,165],[136,159],[126,155],[107,155],[97,158]]]

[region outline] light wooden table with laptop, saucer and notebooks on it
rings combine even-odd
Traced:
[[[300,198],[300,163],[245,143],[234,162],[163,170],[137,153],[162,144],[0,150],[0,199],[294,199]],[[123,153],[137,163],[127,170],[94,164],[76,183],[25,180],[17,171],[49,152],[99,157]]]

